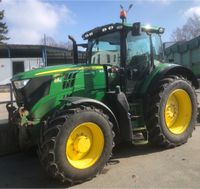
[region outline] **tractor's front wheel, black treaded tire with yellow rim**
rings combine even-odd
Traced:
[[[61,113],[42,132],[39,158],[53,178],[72,184],[93,178],[109,161],[112,123],[102,111],[84,107]]]

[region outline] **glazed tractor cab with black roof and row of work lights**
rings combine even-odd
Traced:
[[[164,28],[139,22],[97,27],[82,36],[88,40],[87,64],[106,67],[109,90],[119,85],[127,95],[132,94],[155,65],[163,61],[163,33]]]

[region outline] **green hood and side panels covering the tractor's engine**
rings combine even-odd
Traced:
[[[31,80],[45,77],[50,77],[46,95],[36,99],[36,103],[27,108],[29,117],[36,125],[47,113],[61,106],[61,100],[65,97],[81,96],[101,101],[105,95],[106,79],[104,68],[100,65],[65,65],[36,69],[14,76],[12,82],[30,79],[24,89],[26,90]],[[28,98],[34,99],[34,95],[33,91]]]

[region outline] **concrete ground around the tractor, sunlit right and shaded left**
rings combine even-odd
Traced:
[[[199,188],[200,127],[187,144],[159,150],[123,145],[103,173],[72,188]],[[49,179],[36,156],[15,154],[0,158],[0,187],[67,188]]]

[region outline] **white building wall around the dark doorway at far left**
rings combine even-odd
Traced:
[[[44,66],[42,58],[0,58],[0,85],[10,83],[13,76],[13,62],[24,62],[24,71]]]

